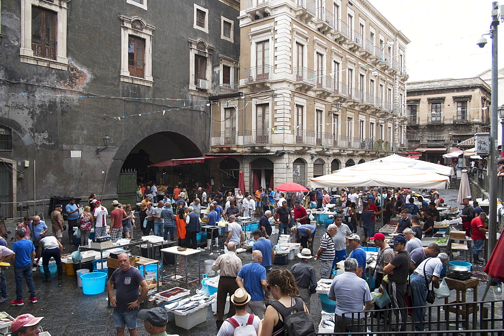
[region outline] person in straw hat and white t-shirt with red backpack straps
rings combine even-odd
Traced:
[[[257,333],[260,319],[258,316],[247,313],[248,301],[250,301],[250,295],[244,288],[238,288],[234,294],[231,295],[231,303],[235,306],[236,313],[233,317],[228,318],[222,323],[217,336],[232,336],[237,326],[245,325],[247,325],[246,328],[254,327]],[[251,333],[250,330],[250,332],[246,334],[253,333]]]

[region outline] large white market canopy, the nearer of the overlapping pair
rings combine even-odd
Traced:
[[[314,188],[387,186],[445,189],[448,176],[413,169],[408,163],[369,161],[311,179]],[[415,160],[414,160],[415,161]]]

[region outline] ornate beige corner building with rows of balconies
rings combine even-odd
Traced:
[[[241,0],[239,25],[239,82],[228,86],[242,98],[217,96],[212,111],[210,154],[233,157],[213,163],[223,177],[233,165],[247,190],[307,185],[406,153],[410,41],[370,2]]]

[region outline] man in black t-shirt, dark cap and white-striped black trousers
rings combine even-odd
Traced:
[[[392,240],[394,250],[397,256],[392,258],[392,261],[384,267],[384,277],[388,275],[389,284],[387,293],[392,301],[392,308],[406,308],[406,289],[408,286],[408,274],[411,266],[411,258],[406,251],[406,238],[404,236],[396,236]],[[386,282],[382,280],[382,285],[385,286]],[[380,292],[383,292],[380,287]],[[399,309],[396,311],[396,326],[392,327],[393,331],[404,331],[404,326],[407,315],[406,309]]]

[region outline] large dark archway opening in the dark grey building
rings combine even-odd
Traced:
[[[156,182],[161,193],[169,193],[171,187],[178,185],[190,194],[192,189],[210,181],[207,162],[181,164],[175,166],[153,166],[175,158],[202,156],[196,144],[182,134],[175,132],[158,132],[147,136],[138,142],[124,159],[121,172],[136,172],[137,184],[151,185]],[[128,179],[130,181],[130,179]],[[117,191],[124,193],[129,186],[120,185],[123,179],[118,179]],[[163,186],[166,186],[163,187]],[[135,191],[136,189],[134,189]]]

